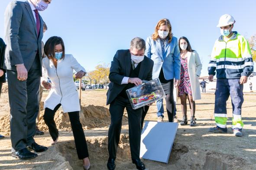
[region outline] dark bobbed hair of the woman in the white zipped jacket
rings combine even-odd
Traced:
[[[44,51],[45,51],[45,55],[51,59],[51,58],[55,58],[55,45],[61,44],[62,45],[62,58],[65,58],[65,45],[64,42],[62,40],[62,38],[57,37],[57,36],[53,36],[50,37],[44,46]]]

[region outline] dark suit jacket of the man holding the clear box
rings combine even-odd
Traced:
[[[123,77],[130,76],[131,68],[131,54],[130,50],[117,50],[113,61],[110,66],[110,80],[109,89],[107,91],[107,105],[110,104],[118,94],[125,88],[127,84],[121,85]],[[140,63],[139,79],[152,80],[153,60],[144,56],[143,61]]]

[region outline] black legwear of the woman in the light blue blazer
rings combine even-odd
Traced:
[[[171,82],[170,87],[164,90],[166,95],[165,101],[166,101],[166,110],[167,110],[168,120],[169,122],[173,122],[173,113],[174,113],[174,107],[175,107],[174,98],[173,98],[173,88],[174,88],[173,79],[171,79],[170,82]],[[143,122],[148,110],[149,110],[149,106],[147,105],[144,106],[142,117],[141,117],[141,129],[143,128]]]

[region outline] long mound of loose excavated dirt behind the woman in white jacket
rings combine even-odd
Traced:
[[[41,104],[41,107],[43,104]],[[38,127],[42,131],[48,131],[48,126],[43,120],[44,110],[40,112]],[[110,124],[110,113],[106,107],[89,105],[81,107],[80,121],[85,130],[104,127]],[[58,110],[54,120],[59,130],[71,130],[68,113]],[[10,115],[3,116],[0,120],[0,132],[10,132]]]

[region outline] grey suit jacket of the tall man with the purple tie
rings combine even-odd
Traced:
[[[6,7],[5,40],[7,46],[4,69],[16,71],[15,65],[24,63],[29,71],[37,53],[40,66],[42,66],[43,20],[40,15],[39,18],[40,32],[37,37],[36,21],[28,1],[14,0]]]

